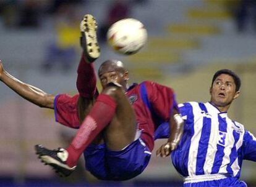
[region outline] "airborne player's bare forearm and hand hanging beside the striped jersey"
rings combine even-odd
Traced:
[[[179,141],[181,141],[184,129],[184,121],[176,109],[169,120],[170,137],[167,143],[164,143],[159,149],[156,150],[156,156],[166,157],[177,148]]]

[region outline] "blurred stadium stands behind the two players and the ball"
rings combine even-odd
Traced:
[[[179,103],[208,101],[211,78],[221,68],[241,76],[241,97],[229,117],[256,135],[256,1],[171,0],[2,0],[0,59],[23,82],[49,94],[74,95],[82,50],[79,23],[84,14],[98,20],[101,57],[124,62],[130,83],[151,80],[173,87]],[[106,43],[109,25],[121,18],[140,20],[147,45],[131,56],[115,54]],[[83,161],[68,178],[59,178],[34,154],[33,146],[66,146],[75,130],[54,121],[54,113],[23,100],[0,84],[0,186],[182,186],[168,158],[155,149],[145,172],[119,183],[98,181]],[[155,148],[166,140],[156,141]],[[256,164],[244,161],[242,180],[256,186]]]

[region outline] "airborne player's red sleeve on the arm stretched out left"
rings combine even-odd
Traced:
[[[79,115],[77,110],[77,101],[79,94],[70,97],[67,94],[56,95],[54,99],[54,114],[56,122],[67,127],[79,128]]]

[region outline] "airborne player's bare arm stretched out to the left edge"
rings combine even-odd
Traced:
[[[49,95],[34,86],[26,84],[19,79],[14,78],[4,70],[0,60],[0,81],[14,90],[21,97],[43,108],[54,108],[54,95]]]

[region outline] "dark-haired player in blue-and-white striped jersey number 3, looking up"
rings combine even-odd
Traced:
[[[256,161],[256,138],[227,113],[240,86],[237,74],[220,70],[213,76],[209,102],[179,105],[184,135],[171,158],[184,186],[247,186],[239,177],[244,159]]]

